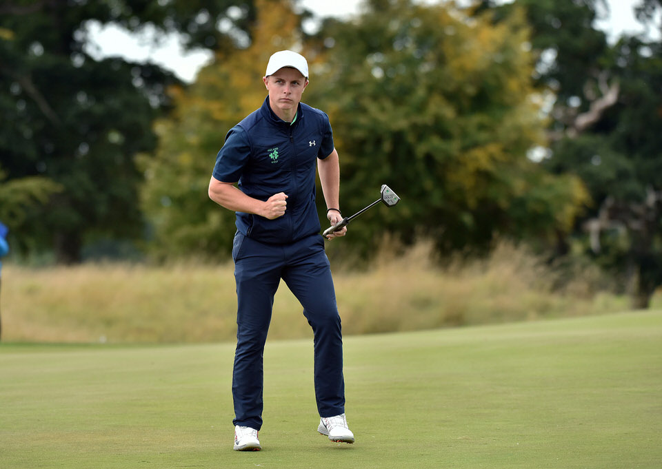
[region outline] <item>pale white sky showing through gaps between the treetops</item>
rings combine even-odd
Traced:
[[[428,1],[435,3],[432,0]],[[605,30],[610,41],[615,41],[623,32],[642,32],[643,27],[634,19],[634,6],[639,1],[608,0],[609,18],[599,21],[596,26]],[[350,17],[357,12],[361,0],[344,0],[343,2],[301,0],[300,4],[318,17]],[[309,26],[314,27],[312,24]],[[659,39],[659,31],[651,32],[651,36]],[[87,52],[96,59],[121,55],[134,61],[150,60],[174,71],[185,81],[193,81],[200,67],[211,57],[210,52],[203,50],[184,52],[176,36],[168,37],[159,47],[154,47],[150,44],[149,37],[141,40],[114,25],[101,28],[98,23],[90,24],[90,38],[97,47],[92,46],[88,48]]]

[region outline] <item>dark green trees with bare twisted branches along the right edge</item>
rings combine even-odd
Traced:
[[[625,274],[633,306],[643,308],[662,284],[662,50],[636,37],[609,45],[593,27],[599,5],[514,3],[532,25],[539,84],[556,97],[543,165],[588,187],[592,204],[575,238],[614,275]],[[656,8],[659,1],[643,1],[640,17],[652,19]],[[554,54],[545,61],[546,50]]]

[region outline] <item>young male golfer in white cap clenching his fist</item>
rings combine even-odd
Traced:
[[[225,136],[209,184],[210,198],[237,212],[234,450],[261,449],[262,356],[281,278],[301,302],[314,333],[317,430],[332,441],[353,443],[345,419],[341,321],[315,206],[317,164],[327,218],[332,225],[343,218],[338,153],[328,116],[301,103],[308,86],[303,56],[276,52],[263,82],[268,96]]]

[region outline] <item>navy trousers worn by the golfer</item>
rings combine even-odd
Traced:
[[[321,417],[345,412],[343,340],[324,240],[264,244],[241,233],[232,247],[237,281],[237,350],[232,398],[234,425],[259,430],[263,409],[263,351],[281,278],[303,306],[314,333],[314,384]]]

